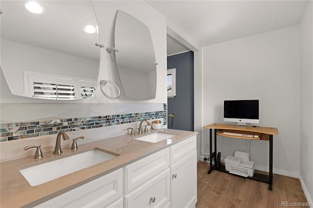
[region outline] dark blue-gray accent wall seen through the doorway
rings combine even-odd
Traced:
[[[168,56],[167,69],[176,68],[176,96],[167,99],[168,128],[179,130],[194,130],[194,52]]]

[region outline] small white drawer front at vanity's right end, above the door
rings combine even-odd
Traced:
[[[179,142],[176,145],[173,145],[171,148],[171,165],[177,163],[181,158],[190,154],[197,149],[197,136],[193,136],[189,139],[186,139],[182,142]]]

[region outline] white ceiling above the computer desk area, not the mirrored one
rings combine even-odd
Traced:
[[[300,22],[306,0],[147,0],[200,46],[289,27]],[[171,49],[168,49],[171,51]]]

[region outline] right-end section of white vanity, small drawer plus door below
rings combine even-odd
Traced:
[[[197,138],[170,147],[171,207],[190,208],[197,203]]]

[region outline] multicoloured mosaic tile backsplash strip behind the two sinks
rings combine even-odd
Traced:
[[[167,125],[167,104],[163,104],[162,111],[6,123],[0,124],[0,142],[161,118],[163,125]]]

